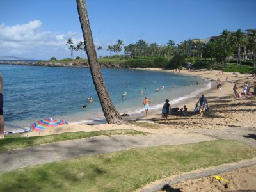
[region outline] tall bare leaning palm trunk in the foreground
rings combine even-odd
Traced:
[[[122,116],[120,116],[118,111],[116,111],[116,108],[113,105],[109,97],[108,90],[104,84],[102,73],[100,71],[100,65],[97,60],[96,49],[93,44],[92,31],[90,29],[90,22],[86,10],[85,0],[77,0],[77,10],[83,31],[84,44],[86,47],[93,83],[97,91],[104,116],[108,124],[125,124],[127,122],[124,120],[124,118],[122,118]]]

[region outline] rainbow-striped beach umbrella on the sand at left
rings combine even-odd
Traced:
[[[52,127],[57,127],[60,125],[68,125],[68,122],[60,118],[45,118],[38,120],[37,122],[29,125],[29,132],[31,131],[44,131]]]

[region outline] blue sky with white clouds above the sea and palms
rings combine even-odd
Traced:
[[[101,56],[118,39],[177,45],[225,29],[256,29],[255,0],[86,0],[86,6]],[[70,58],[68,38],[83,42],[76,0],[0,0],[0,56]]]

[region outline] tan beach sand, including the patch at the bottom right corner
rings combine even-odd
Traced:
[[[162,70],[160,68],[148,68],[147,70]],[[167,70],[166,72],[172,73],[173,70]],[[243,88],[241,86],[244,83],[250,83],[253,86],[253,82],[256,81],[253,79],[250,74],[239,74],[238,77],[232,75],[231,72],[224,72],[223,74],[216,70],[197,70],[197,71],[188,71],[181,70],[177,72],[189,76],[200,76],[204,79],[208,79],[212,82],[211,90],[204,92],[205,97],[207,98],[209,104],[209,111],[206,111],[203,117],[200,117],[199,113],[195,113],[193,110],[195,104],[198,101],[200,95],[196,95],[188,100],[184,100],[184,103],[177,106],[181,108],[186,104],[188,108],[187,115],[175,115],[168,116],[168,120],[163,120],[161,117],[161,111],[150,111],[150,115],[141,115],[129,116],[129,120],[137,121],[147,121],[152,123],[157,123],[161,125],[160,129],[148,129],[145,127],[140,127],[138,125],[108,125],[108,124],[99,124],[99,125],[66,125],[63,127],[58,127],[57,129],[52,129],[44,132],[28,132],[24,136],[42,136],[48,134],[58,134],[61,132],[76,132],[76,131],[98,131],[98,130],[111,130],[111,129],[134,129],[139,131],[149,132],[151,134],[186,134],[189,132],[198,132],[200,134],[212,134],[216,138],[225,138],[225,133],[228,130],[236,128],[237,135],[243,135],[243,129],[250,130],[254,134],[248,134],[248,137],[255,140],[256,134],[256,104],[255,104],[255,95],[252,94],[251,97],[245,99],[244,97],[239,98],[237,95],[236,98],[233,96],[233,86],[237,84],[238,90],[237,93],[242,93]],[[223,82],[221,92],[217,92],[216,80],[220,79]],[[227,80],[227,81],[226,81]],[[204,83],[204,82],[200,82]],[[250,92],[253,93],[253,87],[250,88]],[[166,98],[168,99],[168,98]],[[164,102],[163,102],[164,104]],[[170,103],[172,106],[172,103]],[[141,104],[142,105],[142,104]],[[176,106],[172,106],[176,107]],[[239,128],[239,129],[237,129]],[[240,129],[241,128],[241,129]],[[241,131],[241,132],[240,132]],[[218,135],[220,134],[220,135]],[[228,135],[226,138],[228,138]],[[236,135],[230,139],[236,139]],[[237,140],[241,140],[241,137]],[[241,140],[243,141],[243,140]],[[248,142],[250,145],[250,142]],[[254,145],[252,143],[252,145]],[[256,147],[256,146],[253,146]],[[253,167],[255,171],[255,167]],[[231,176],[230,176],[231,175]],[[236,175],[237,177],[233,177]],[[236,186],[230,189],[256,189],[255,181],[255,172],[251,172],[250,168],[247,170],[237,170],[236,172],[229,172],[223,175],[225,178],[232,180],[233,183],[236,182]],[[248,180],[247,178],[252,178]],[[237,178],[237,179],[236,179]],[[199,180],[199,181],[198,181]],[[195,191],[205,191],[206,186],[209,186],[209,183],[216,183],[218,186],[218,180],[212,179],[212,177],[205,177],[203,179],[190,180],[184,183],[177,184],[175,188],[183,189],[184,191],[189,191],[187,188],[193,188]],[[202,186],[202,183],[204,186]],[[219,191],[225,191],[223,183],[220,184]],[[211,188],[208,188],[211,191]],[[217,187],[215,188],[217,189]],[[182,190],[182,191],[183,191]],[[207,190],[206,190],[207,191]]]

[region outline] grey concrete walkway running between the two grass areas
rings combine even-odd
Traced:
[[[99,136],[81,140],[28,147],[11,152],[0,152],[0,172],[7,172],[26,166],[45,164],[76,157],[104,154],[131,148],[160,145],[181,145],[216,140],[203,134],[150,134],[147,136]]]

